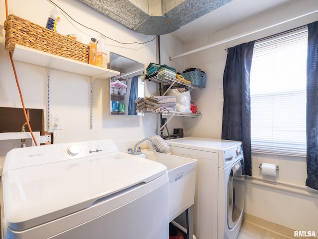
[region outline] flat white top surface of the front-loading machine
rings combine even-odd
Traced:
[[[234,140],[222,140],[204,137],[176,138],[166,140],[166,142],[170,146],[191,148],[208,152],[219,152],[220,149],[224,150],[227,148],[232,148],[233,146],[236,146],[241,143],[239,141]]]

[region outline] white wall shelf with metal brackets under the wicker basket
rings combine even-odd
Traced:
[[[88,53],[87,53],[88,54]],[[16,44],[12,54],[13,60],[26,62],[48,68],[47,76],[47,131],[50,131],[50,69],[72,72],[84,76],[89,76],[90,80],[90,128],[92,129],[92,108],[93,108],[93,81],[97,78],[107,79],[120,74],[118,71],[105,69],[88,63],[72,60],[66,57],[54,55],[44,51],[39,51],[29,47]]]

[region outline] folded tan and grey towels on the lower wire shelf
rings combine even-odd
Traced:
[[[175,112],[176,108],[175,96],[150,96],[145,98],[137,98],[137,112]]]

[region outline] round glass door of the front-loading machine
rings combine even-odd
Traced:
[[[232,229],[242,214],[245,199],[244,160],[234,163],[229,175],[228,184],[228,227]]]

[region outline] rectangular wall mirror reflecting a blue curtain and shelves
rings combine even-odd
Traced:
[[[144,64],[110,52],[109,68],[120,72],[110,78],[110,115],[143,116],[135,100],[145,97]]]

